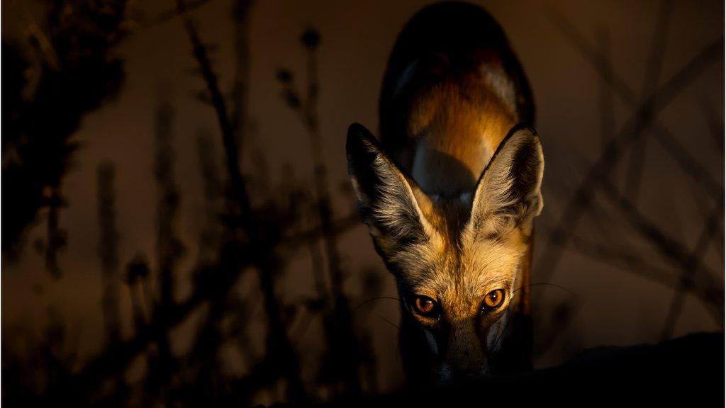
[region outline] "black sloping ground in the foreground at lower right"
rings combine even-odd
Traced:
[[[327,407],[723,407],[724,334],[658,345],[598,347],[559,367],[428,391],[369,396]]]

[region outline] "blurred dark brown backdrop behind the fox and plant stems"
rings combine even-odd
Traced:
[[[81,4],[91,2],[67,3],[78,11]],[[215,177],[205,178],[200,171],[204,153],[211,158],[220,185],[227,184],[229,177],[219,121],[208,103],[207,85],[199,74],[199,61],[192,54],[185,17],[179,15],[174,1],[129,3],[118,28],[113,28],[118,30],[118,44],[113,42],[105,51],[98,50],[99,55],[111,55],[120,62],[117,68],[124,78],[118,81],[118,91],[109,91],[91,107],[79,108],[77,126],[66,129],[55,123],[62,122],[54,114],[59,104],[73,106],[80,100],[78,95],[83,94],[80,90],[102,87],[99,83],[107,85],[116,79],[110,79],[115,78],[111,75],[96,82],[91,75],[73,77],[73,82],[63,76],[54,77],[52,70],[38,68],[49,64],[47,54],[38,52],[42,48],[37,45],[38,33],[51,39],[53,33],[58,33],[46,20],[52,7],[43,2],[2,1],[4,54],[9,54],[8,44],[16,44],[16,48],[25,50],[24,59],[30,62],[25,70],[17,70],[25,78],[22,98],[38,100],[34,84],[43,81],[72,84],[70,89],[50,92],[52,97],[46,105],[31,110],[27,103],[22,105],[9,96],[8,87],[19,81],[10,77],[9,73],[15,71],[7,68],[8,59],[3,65],[3,370],[22,373],[17,374],[22,378],[18,381],[31,394],[52,391],[53,380],[44,375],[52,372],[49,367],[53,364],[64,367],[64,375],[73,378],[87,362],[113,346],[102,313],[103,288],[108,282],[118,286],[118,341],[135,338],[139,328],[134,323],[134,301],[124,277],[127,264],[137,254],[147,259],[150,275],[145,278],[146,287],[152,293],[151,300],[146,299],[150,303],[139,304],[152,310],[160,304],[154,299],[161,290],[160,271],[165,265],[160,260],[163,256],[158,255],[164,251],[158,242],[166,242],[162,248],[171,241],[183,243],[183,253],[171,256],[176,286],[172,303],[183,303],[197,290],[195,276],[203,264],[200,259],[205,258],[203,243],[213,241],[209,236],[200,238],[200,234],[212,225],[212,236],[219,237],[224,235],[225,223],[229,224],[229,219],[220,222],[216,216],[226,211],[222,204],[227,200],[224,193],[212,194],[205,200],[205,191],[209,191],[205,187],[216,184],[210,181]],[[285,221],[285,227],[277,221],[265,221],[261,229],[279,229],[282,235],[294,236],[319,225],[315,200],[311,200],[316,192],[310,128],[304,118],[301,120],[311,53],[317,54],[319,78],[319,101],[317,113],[313,114],[322,140],[317,152],[327,167],[332,219],[351,219],[354,205],[346,173],[346,128],[352,122],[376,128],[378,91],[388,52],[407,19],[425,3],[258,1],[251,5],[248,24],[242,24],[248,30],[249,44],[249,73],[242,76],[248,84],[248,121],[240,149],[242,174],[250,181],[248,190],[254,208],[267,208],[273,201],[280,208],[290,207],[289,203],[297,208],[294,216],[280,210],[294,219]],[[532,288],[536,366],[560,364],[583,348],[603,344],[655,343],[689,332],[722,330],[723,3],[478,3],[502,25],[529,76],[537,106],[537,130],[544,146],[544,211],[537,220],[533,282],[552,285]],[[219,77],[219,89],[231,112],[234,70],[238,67],[235,29],[240,28],[232,19],[232,11],[238,2],[187,4],[186,16],[203,45],[208,46],[211,67]],[[77,18],[83,20],[83,12],[79,13]],[[97,21],[89,15],[85,18]],[[301,41],[301,34],[309,28],[319,33],[317,46]],[[92,54],[94,46],[90,50]],[[64,51],[57,52],[63,65]],[[698,69],[689,71],[685,79],[676,77],[684,81],[672,94],[658,94],[694,58]],[[282,68],[287,71],[281,76]],[[98,70],[91,70],[94,72]],[[288,74],[292,75],[292,85],[285,82]],[[296,89],[303,107],[296,107],[284,89]],[[653,92],[657,110],[651,117],[647,110],[637,111],[637,107],[647,103]],[[8,106],[30,112],[20,131],[7,130]],[[234,121],[235,115],[229,115]],[[15,122],[11,119],[10,123]],[[52,138],[57,131],[66,135],[59,145],[78,143],[62,170],[44,167],[49,160],[17,159],[17,146],[27,140],[6,135],[32,134],[29,123],[43,124],[43,131],[36,131],[38,139]],[[645,130],[632,131],[633,123],[635,128],[637,123],[642,124]],[[587,208],[582,221],[571,226],[568,220],[574,211],[567,203],[573,200],[579,185],[595,185],[586,176],[590,166],[596,163],[608,140],[629,134],[642,134],[639,140],[643,142],[619,149],[619,162],[607,177],[627,204],[613,200],[616,194],[611,190],[592,187],[595,193],[591,202],[575,204],[578,211]],[[206,144],[200,145],[200,139]],[[49,151],[55,151],[58,145],[48,146]],[[210,146],[211,151],[200,146]],[[45,183],[42,191],[52,191],[53,196],[64,201],[55,207],[40,205],[31,217],[33,221],[17,236],[6,234],[8,220],[17,217],[13,203],[23,203],[23,197],[7,188],[15,185],[7,181],[12,177],[7,171],[12,163],[35,166],[33,171],[40,174],[57,174],[59,182]],[[113,163],[115,169],[113,213],[118,242],[110,246],[101,243],[97,215],[97,168],[102,163]],[[171,163],[166,166],[171,171],[166,179],[155,178],[160,163]],[[173,192],[179,200],[165,202],[164,192]],[[257,214],[258,219],[269,218],[265,211]],[[48,227],[54,216],[58,219],[57,231],[51,234],[65,237],[57,248],[49,245],[54,242],[49,240]],[[166,235],[160,227],[163,219],[171,226]],[[343,288],[352,332],[356,338],[365,339],[370,360],[375,361],[361,369],[372,370],[374,374],[368,378],[375,378],[362,380],[362,388],[367,392],[393,390],[402,382],[396,287],[375,254],[366,229],[350,221],[342,224],[346,227],[335,242],[345,277]],[[572,237],[555,265],[548,264],[548,256],[560,248],[552,238],[558,235],[552,232]],[[282,320],[300,360],[303,383],[314,399],[326,399],[337,395],[337,391],[335,386],[323,386],[326,380],[321,378],[325,375],[319,375],[330,348],[324,334],[326,320],[322,312],[309,306],[311,299],[317,299],[313,272],[322,270],[311,258],[310,242],[318,245],[323,258],[330,254],[322,249],[320,240],[304,242],[294,248],[281,244],[282,249],[274,250],[274,258],[280,261],[275,290],[281,308],[285,313],[290,309],[289,318]],[[48,261],[49,248],[56,256],[54,262]],[[112,262],[108,269],[111,272],[106,275],[102,273],[99,248],[117,250],[117,261]],[[245,378],[250,362],[264,356],[269,346],[264,296],[257,275],[244,272],[250,268],[254,266],[236,269],[242,271],[240,278],[234,280],[231,294],[225,295],[227,300],[234,298],[243,306],[234,309],[229,305],[237,303],[225,301],[224,311],[215,318],[223,327],[219,332],[224,333],[224,341],[213,348],[214,367],[210,370],[217,375],[213,378],[222,378],[219,383],[227,381],[227,385],[233,383],[229,378]],[[693,279],[683,284],[683,276]],[[199,333],[203,331],[200,327],[213,307],[210,304],[214,302],[201,302],[168,332],[176,364],[194,366],[182,356],[197,350]],[[244,336],[235,337],[225,325],[239,314],[248,316],[248,322],[242,330]],[[123,404],[148,401],[138,397],[146,392],[139,390],[154,386],[166,390],[155,394],[160,401],[171,401],[170,390],[184,385],[181,370],[172,370],[174,374],[166,385],[149,385],[150,372],[145,362],[158,354],[157,347],[150,341],[148,347],[134,354],[131,364],[118,371],[123,373],[119,383],[134,390]],[[46,354],[52,354],[52,359]],[[187,377],[203,371],[191,372]],[[6,396],[12,392],[5,380],[3,387]],[[275,381],[255,387],[258,389],[264,391],[250,393],[245,399],[264,404],[287,399],[286,388]],[[103,401],[105,397],[89,396],[95,398]]]

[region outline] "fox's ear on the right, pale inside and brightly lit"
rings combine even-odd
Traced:
[[[515,228],[529,235],[542,211],[544,156],[534,128],[515,126],[499,143],[481,174],[472,201],[469,228],[501,235]]]

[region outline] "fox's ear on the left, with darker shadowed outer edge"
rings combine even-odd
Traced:
[[[423,242],[431,226],[417,203],[420,190],[415,181],[404,176],[378,139],[359,123],[348,128],[346,152],[358,211],[378,249],[391,255]]]

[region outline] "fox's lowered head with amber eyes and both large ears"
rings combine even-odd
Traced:
[[[420,359],[433,362],[439,380],[486,372],[542,210],[536,132],[515,126],[476,189],[460,197],[426,195],[357,123],[346,150],[359,213],[396,278],[404,323],[425,338]]]

